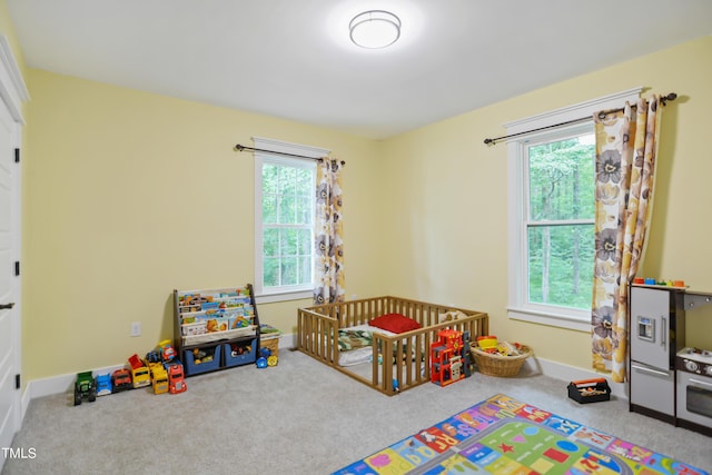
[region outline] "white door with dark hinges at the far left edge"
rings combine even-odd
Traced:
[[[20,283],[19,260],[19,164],[14,161],[19,126],[0,98],[0,447],[10,447],[20,428]],[[6,457],[0,456],[0,471]]]

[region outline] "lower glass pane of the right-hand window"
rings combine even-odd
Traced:
[[[530,303],[591,308],[593,225],[530,227],[527,240]]]

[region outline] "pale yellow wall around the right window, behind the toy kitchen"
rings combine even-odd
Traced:
[[[644,86],[676,92],[663,117],[657,191],[642,275],[712,293],[712,37],[692,41],[404,133],[384,145],[389,185],[389,293],[456,303],[491,316],[492,331],[560,363],[590,368],[587,333],[510,320],[507,148],[502,125]],[[700,216],[695,216],[699,212]],[[712,347],[712,308],[690,313],[689,344]]]

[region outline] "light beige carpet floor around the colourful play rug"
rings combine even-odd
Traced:
[[[555,412],[701,468],[712,438],[629,413],[627,403],[578,405],[566,384],[541,375],[481,374],[384,396],[310,357],[280,349],[279,365],[187,379],[188,392],[148,389],[72,405],[72,395],[30,404],[7,459],[14,474],[328,474],[494,394]]]

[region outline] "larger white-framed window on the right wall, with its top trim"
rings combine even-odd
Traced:
[[[507,125],[507,133],[522,133],[570,122],[508,141],[510,318],[590,330],[595,137],[586,118],[639,93],[623,91]]]

